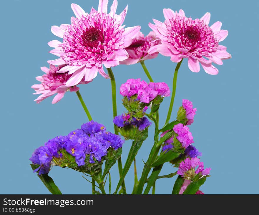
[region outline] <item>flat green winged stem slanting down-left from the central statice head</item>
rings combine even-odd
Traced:
[[[132,146],[129,150],[129,155],[127,157],[127,161],[124,165],[124,168],[122,170],[122,174],[120,176],[120,179],[119,179],[119,182],[118,182],[118,185],[117,185],[117,188],[116,188],[116,191],[114,193],[117,193],[118,190],[119,190],[119,187],[122,185],[122,182],[124,181],[124,178],[125,178],[126,174],[128,173],[129,168],[130,168],[132,162],[134,161],[134,158],[136,157],[137,152],[140,149],[142,143],[143,143],[143,141],[133,141],[132,142]]]

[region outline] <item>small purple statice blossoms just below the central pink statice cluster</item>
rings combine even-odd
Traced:
[[[140,131],[144,130],[152,124],[146,117],[143,117],[141,119],[133,117],[132,121],[127,121],[125,120],[124,114],[114,117],[113,123],[120,128],[123,128],[127,125],[133,125],[136,126]]]

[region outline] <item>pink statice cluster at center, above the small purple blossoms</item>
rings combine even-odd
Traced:
[[[137,95],[136,100],[148,104],[155,99],[157,95],[162,97],[169,96],[170,90],[168,85],[164,82],[150,82],[147,84],[147,82],[140,81],[140,78],[138,78],[129,79],[126,83],[122,84],[120,94],[128,99],[133,95]]]

